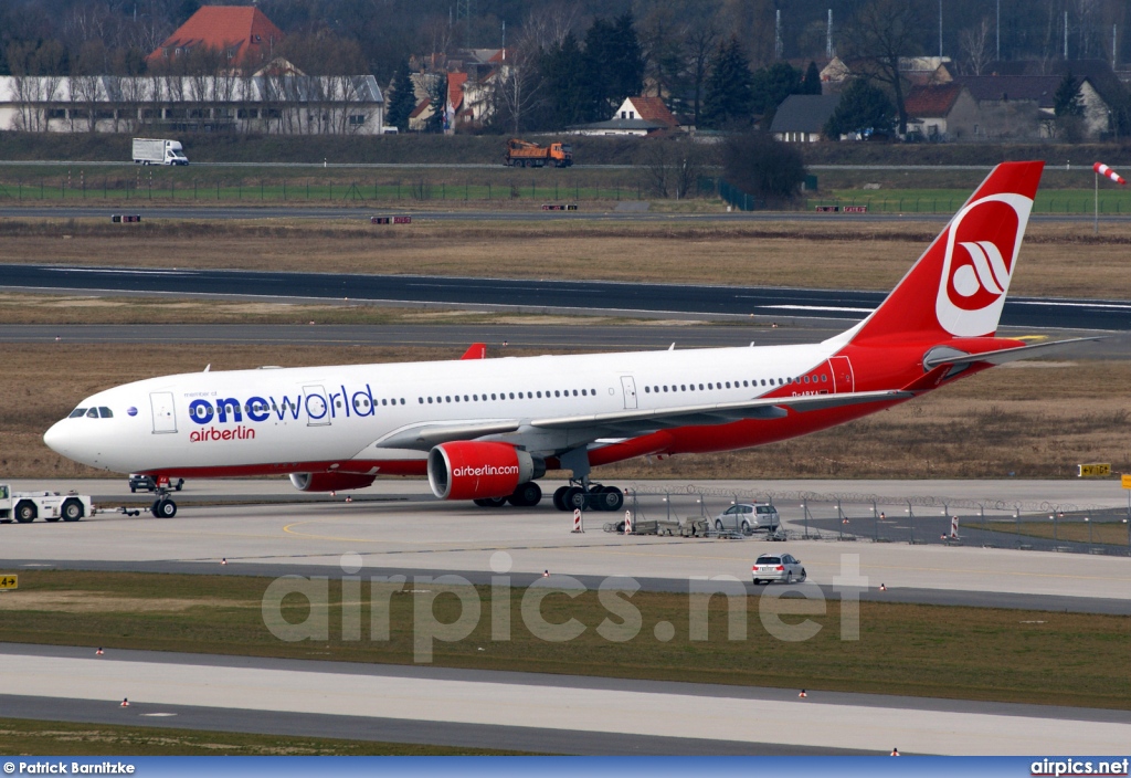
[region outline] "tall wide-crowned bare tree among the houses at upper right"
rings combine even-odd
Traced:
[[[861,60],[867,78],[884,84],[892,95],[899,135],[907,132],[907,105],[899,60],[920,52],[923,15],[910,0],[869,0],[851,23],[847,43]]]

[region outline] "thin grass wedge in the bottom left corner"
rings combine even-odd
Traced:
[[[18,711],[9,711],[18,712]],[[489,749],[0,718],[0,757],[454,757]]]

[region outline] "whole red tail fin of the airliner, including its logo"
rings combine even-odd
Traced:
[[[993,335],[1042,168],[1043,162],[994,167],[853,343]]]

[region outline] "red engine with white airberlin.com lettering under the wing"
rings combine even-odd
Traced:
[[[539,464],[509,443],[441,443],[428,455],[428,482],[441,500],[504,498],[543,475]]]

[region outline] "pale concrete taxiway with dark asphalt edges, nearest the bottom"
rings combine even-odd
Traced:
[[[64,720],[285,733],[297,719],[308,736],[558,753],[1116,754],[1131,740],[1131,712],[1116,710],[19,645],[0,654],[5,709]]]

